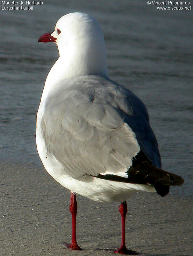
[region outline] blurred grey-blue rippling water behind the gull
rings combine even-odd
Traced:
[[[54,30],[61,16],[86,12],[98,20],[104,32],[110,78],[132,90],[149,111],[163,169],[185,178],[182,188],[172,189],[172,193],[189,195],[192,10],[158,11],[141,0],[42,2],[33,5],[33,10],[1,10],[0,161],[42,166],[35,144],[36,113],[58,51],[53,43],[37,41]]]

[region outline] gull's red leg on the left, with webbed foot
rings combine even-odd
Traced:
[[[70,191],[70,207],[69,211],[72,214],[72,242],[71,244],[66,244],[69,249],[81,251],[82,249],[78,246],[76,242],[76,213],[77,213],[77,202],[76,195]]]

